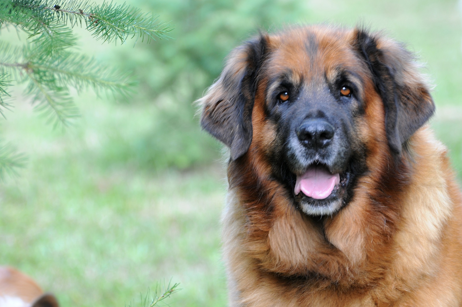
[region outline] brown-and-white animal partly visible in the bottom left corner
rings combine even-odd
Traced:
[[[43,293],[29,276],[0,266],[0,307],[59,307],[55,296]]]

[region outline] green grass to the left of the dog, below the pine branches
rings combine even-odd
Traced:
[[[2,263],[34,276],[63,306],[139,306],[140,293],[170,278],[182,288],[169,300],[175,306],[223,304],[221,167],[105,166],[107,130],[120,120],[113,108],[99,103],[67,133],[51,131],[23,104],[8,117],[6,135],[30,161],[0,187]],[[142,125],[128,117],[145,107],[117,108],[127,116],[120,129]],[[113,116],[106,122],[102,114]]]

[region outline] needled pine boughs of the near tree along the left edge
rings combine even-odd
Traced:
[[[55,125],[68,125],[79,116],[69,88],[91,87],[100,92],[127,96],[135,85],[127,73],[109,68],[94,58],[73,52],[76,38],[73,26],[85,26],[93,37],[104,42],[124,43],[129,37],[169,38],[170,25],[158,22],[157,16],[142,13],[126,4],[103,2],[98,6],[88,0],[0,0],[0,27],[12,25],[29,37],[22,48],[0,42],[0,114],[11,107],[6,87],[10,79],[26,83],[26,95],[36,111]],[[0,177],[20,165],[21,156],[0,145]],[[176,287],[176,285],[174,286]]]

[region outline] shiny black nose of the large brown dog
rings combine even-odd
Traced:
[[[324,119],[310,118],[298,126],[298,140],[305,147],[324,148],[329,146],[334,137],[334,126]]]

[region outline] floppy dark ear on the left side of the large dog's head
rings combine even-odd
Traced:
[[[252,142],[252,109],[258,70],[267,46],[260,35],[234,49],[219,79],[199,99],[201,126],[231,149],[236,160]]]

